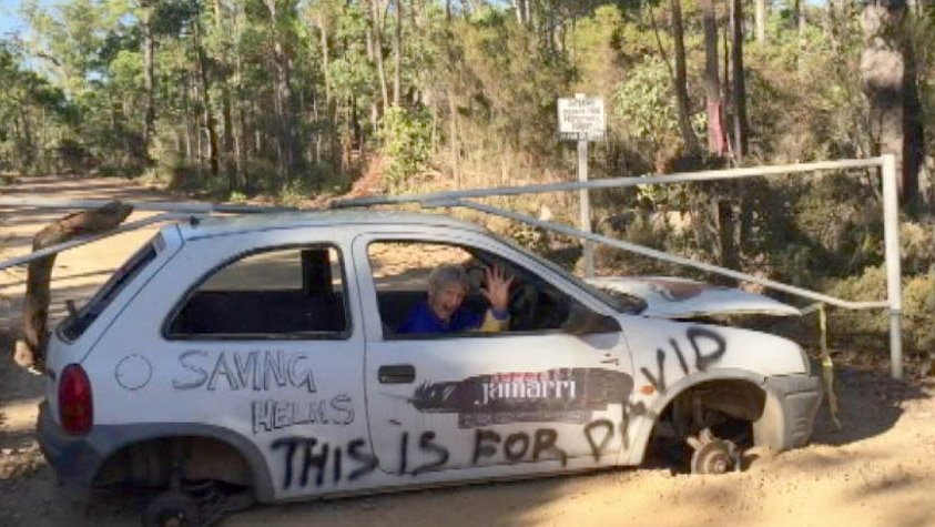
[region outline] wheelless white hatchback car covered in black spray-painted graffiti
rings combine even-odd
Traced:
[[[439,263],[515,276],[508,328],[396,333]],[[628,295],[436,214],[167,225],[48,338],[40,444],[79,495],[160,491],[144,523],[163,525],[640,465],[665,442],[718,473],[745,447],[809,440],[821,385],[799,345],[667,320],[648,307],[697,295],[657,280],[668,297],[634,301],[616,280]],[[486,308],[476,292],[465,303]]]

